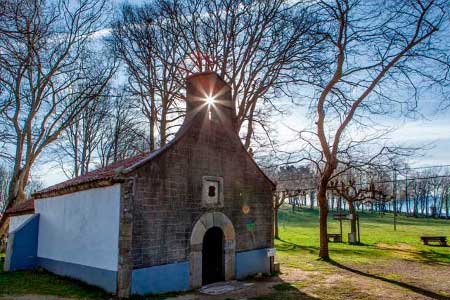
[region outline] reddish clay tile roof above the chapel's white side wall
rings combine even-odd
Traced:
[[[142,154],[138,154],[136,156],[115,162],[113,164],[110,164],[104,168],[100,168],[91,172],[88,172],[84,175],[69,179],[67,181],[55,184],[53,186],[50,186],[48,188],[45,188],[43,190],[40,190],[36,193],[34,193],[35,196],[41,196],[43,194],[51,193],[54,191],[66,189],[69,187],[75,187],[81,184],[86,183],[93,183],[97,181],[105,181],[105,180],[112,180],[115,176],[117,176],[117,170],[118,169],[125,169],[128,167],[133,166],[137,162],[143,160],[149,156],[149,152],[145,152]]]

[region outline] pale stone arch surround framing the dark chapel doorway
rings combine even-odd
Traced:
[[[217,228],[217,229],[213,229]],[[210,231],[210,229],[212,229]],[[209,233],[208,233],[209,232]],[[220,234],[219,234],[220,233]],[[218,243],[219,235],[221,237],[222,245]],[[204,266],[211,265],[208,257],[204,256],[204,243],[206,249],[222,249],[222,269],[219,274],[222,274],[220,280],[232,280],[235,278],[235,231],[233,223],[230,219],[221,212],[208,212],[203,214],[199,220],[194,224],[191,234],[190,253],[189,253],[189,282],[191,288],[201,287],[204,283],[203,272]],[[209,252],[209,250],[208,250]],[[205,253],[206,254],[206,253]],[[217,253],[216,253],[217,254]],[[209,255],[209,254],[207,254]],[[205,260],[205,265],[203,261]],[[208,269],[211,269],[208,267]],[[212,268],[216,269],[216,268]],[[208,282],[208,280],[206,281]]]

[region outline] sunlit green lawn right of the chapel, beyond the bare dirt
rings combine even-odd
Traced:
[[[319,253],[319,213],[304,209],[291,212],[281,209],[280,240],[276,240],[277,258],[288,266],[310,268],[326,266],[317,261]],[[345,243],[350,231],[343,222],[344,243],[330,243],[330,257],[339,263],[379,263],[380,260],[406,259],[450,263],[450,247],[424,246],[421,235],[450,236],[450,221],[398,216],[394,231],[392,214],[360,214],[361,243]],[[339,221],[328,219],[328,232],[339,233]]]

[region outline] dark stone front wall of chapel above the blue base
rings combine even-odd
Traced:
[[[188,260],[192,228],[211,211],[233,222],[237,252],[273,246],[273,186],[220,114],[209,120],[200,110],[173,145],[132,174],[134,268]],[[202,207],[203,176],[223,177],[223,207]]]

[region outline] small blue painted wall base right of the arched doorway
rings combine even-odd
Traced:
[[[244,279],[258,273],[270,273],[267,249],[236,253],[236,279]]]

